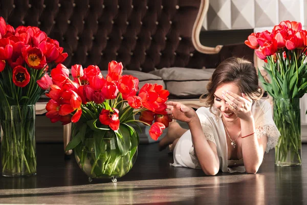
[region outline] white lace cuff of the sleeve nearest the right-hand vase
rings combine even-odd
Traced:
[[[266,124],[256,129],[256,136],[258,139],[264,135],[268,137],[266,153],[269,153],[269,150],[273,149],[277,145],[280,133],[275,124],[274,125]]]

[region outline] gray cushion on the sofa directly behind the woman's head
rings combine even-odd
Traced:
[[[199,97],[207,92],[207,84],[215,69],[163,68],[151,71],[162,77],[170,94],[178,97]]]

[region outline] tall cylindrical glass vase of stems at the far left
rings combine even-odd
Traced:
[[[36,175],[35,105],[0,110],[2,175]]]

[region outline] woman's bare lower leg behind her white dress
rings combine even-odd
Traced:
[[[187,130],[182,128],[176,120],[170,122],[166,135],[159,142],[159,150],[164,150],[168,145],[173,144],[176,139],[179,139]],[[176,140],[177,142],[178,140]],[[174,148],[174,145],[172,146]]]

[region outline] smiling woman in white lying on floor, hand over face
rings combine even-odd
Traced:
[[[256,173],[280,135],[254,65],[242,58],[228,58],[214,71],[205,103],[196,112],[168,101],[172,119],[186,122],[189,130],[173,120],[160,149],[169,145],[175,167],[202,169],[206,175],[223,172]]]

